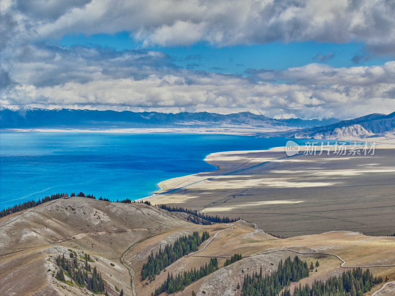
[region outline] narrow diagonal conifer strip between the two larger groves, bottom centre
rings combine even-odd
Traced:
[[[166,292],[167,294],[173,294],[178,291],[184,290],[184,288],[191,283],[201,279],[202,277],[214,272],[218,269],[217,258],[211,258],[210,262],[200,266],[199,270],[196,268],[184,273],[179,272],[177,276],[173,277],[173,274],[167,273],[167,280],[157,289],[155,289],[155,296]]]

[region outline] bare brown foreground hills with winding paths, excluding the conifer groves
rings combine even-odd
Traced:
[[[185,287],[178,295],[240,295],[245,274],[275,271],[280,260],[299,256],[316,262],[317,272],[298,282],[312,284],[341,274],[347,266],[395,265],[395,237],[368,237],[350,231],[332,231],[317,235],[278,239],[245,221],[229,225],[197,225],[177,213],[169,213],[146,204],[121,204],[73,197],[42,204],[28,212],[0,219],[0,295],[92,295],[86,287],[56,278],[57,258],[77,256],[97,268],[106,293],[118,296],[151,295],[166,281],[167,273],[178,276],[218,259],[218,270]],[[182,235],[208,231],[210,238],[200,252],[182,257],[165,267],[152,281],[141,281],[141,269],[150,254],[163,250]],[[225,260],[235,253],[242,259],[226,267]],[[323,254],[325,253],[325,254]],[[84,259],[89,254],[89,261]],[[332,255],[330,255],[332,254]],[[336,255],[336,256],[334,256]],[[87,255],[86,255],[87,256]],[[81,264],[81,263],[79,263]],[[395,279],[395,267],[371,267],[374,276]],[[373,287],[378,290],[384,283]],[[291,290],[296,283],[291,283]],[[392,289],[389,285],[384,291]],[[94,295],[94,294],[93,294]],[[163,294],[165,295],[165,293]],[[370,294],[368,294],[370,295]]]

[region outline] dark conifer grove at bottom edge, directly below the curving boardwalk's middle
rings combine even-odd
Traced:
[[[309,274],[306,261],[302,261],[297,256],[293,260],[288,257],[284,263],[281,260],[277,270],[270,275],[262,274],[262,267],[259,273],[253,272],[252,276],[245,275],[241,292],[243,296],[277,296],[291,281],[297,282],[308,277]]]

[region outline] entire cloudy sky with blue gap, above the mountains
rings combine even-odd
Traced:
[[[0,105],[395,111],[393,0],[0,0]]]

